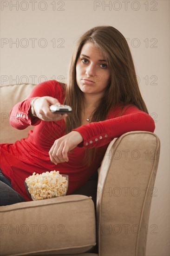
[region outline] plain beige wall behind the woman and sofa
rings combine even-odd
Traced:
[[[12,4],[17,4],[18,10]],[[108,4],[110,7],[105,6]],[[168,0],[37,0],[34,10],[31,0],[1,1],[1,85],[66,79],[74,41],[91,27],[111,25],[128,40],[140,90],[156,121],[155,133],[161,141],[148,226],[147,256],[170,255],[169,10]],[[37,39],[34,47],[31,38]],[[12,42],[17,40],[16,47]],[[46,47],[43,47],[44,42]],[[26,43],[28,45],[24,47]]]

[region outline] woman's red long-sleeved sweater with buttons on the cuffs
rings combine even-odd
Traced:
[[[27,201],[30,201],[26,193],[24,181],[26,177],[36,173],[51,170],[59,170],[61,174],[69,175],[69,188],[67,195],[81,187],[90,176],[99,168],[105,151],[113,138],[130,131],[154,132],[155,123],[150,115],[140,111],[135,106],[130,106],[123,111],[121,116],[118,112],[121,104],[108,114],[105,121],[92,122],[76,129],[84,141],[76,148],[74,153],[69,154],[69,162],[58,163],[56,166],[50,161],[49,150],[54,141],[65,135],[65,121],[42,121],[36,119],[34,123],[29,116],[29,109],[33,97],[51,96],[63,104],[65,89],[58,81],[50,80],[33,88],[31,94],[22,102],[17,103],[10,113],[10,123],[14,128],[25,129],[34,125],[28,137],[16,141],[13,144],[0,144],[0,169],[11,180],[13,188]],[[90,167],[83,164],[85,148],[97,147],[97,157]]]

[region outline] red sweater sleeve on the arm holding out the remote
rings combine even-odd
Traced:
[[[29,115],[31,101],[35,97],[51,96],[59,101],[62,98],[62,89],[58,81],[49,80],[36,85],[24,101],[18,102],[10,112],[9,121],[11,126],[23,130],[29,125],[38,125],[42,120]]]

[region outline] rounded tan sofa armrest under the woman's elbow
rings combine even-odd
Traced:
[[[99,256],[145,255],[159,154],[150,132],[128,132],[109,144],[98,169]]]

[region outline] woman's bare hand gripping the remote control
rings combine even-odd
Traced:
[[[67,114],[52,113],[50,106],[60,104],[59,101],[50,96],[39,97],[34,101],[34,112],[36,116],[43,121],[58,121],[67,116]]]

